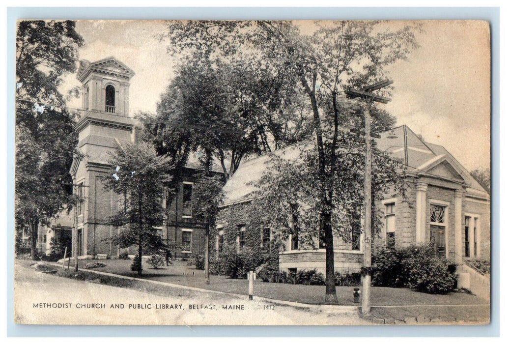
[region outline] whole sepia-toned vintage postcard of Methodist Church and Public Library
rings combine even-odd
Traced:
[[[489,324],[490,23],[19,20],[14,318]]]

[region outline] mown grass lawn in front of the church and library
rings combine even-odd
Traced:
[[[196,270],[194,265],[189,266],[187,265],[188,262],[183,262],[180,260],[175,260],[172,265],[163,266],[158,269],[153,269],[144,262],[144,270],[142,276],[138,276],[136,272],[131,271],[131,260],[81,260],[79,261],[79,265],[80,267],[83,267],[88,262],[98,261],[105,263],[107,266],[94,268],[94,271],[103,271],[123,276],[139,277],[155,281],[180,284],[209,290],[231,292],[236,294],[246,295],[248,291],[247,280],[230,279],[224,276],[211,276],[211,284],[207,285],[205,283],[203,271]],[[255,281],[253,289],[254,296],[264,298],[307,304],[321,304],[324,302],[324,286],[293,285]],[[337,287],[337,297],[339,303],[341,305],[359,305],[353,303],[352,292],[352,287]],[[407,288],[387,287],[373,287],[371,300],[373,306],[487,304],[487,301],[466,293],[435,295],[417,292]]]

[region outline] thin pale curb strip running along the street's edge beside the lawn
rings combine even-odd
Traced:
[[[62,267],[62,265],[57,264],[57,263],[53,263],[53,262],[45,262],[45,264],[50,264],[50,265],[55,265],[55,266]],[[117,274],[112,274],[112,273],[105,273],[103,271],[94,271],[94,270],[91,270],[91,269],[80,268],[80,271],[86,271],[86,272],[93,273],[93,274],[110,276],[110,277],[117,277],[117,278],[122,278],[122,279],[126,279],[126,280],[132,280],[132,281],[154,283],[154,284],[164,285],[164,286],[167,286],[167,287],[178,288],[178,289],[186,289],[186,290],[201,291],[201,292],[213,292],[213,293],[217,293],[217,294],[224,294],[224,295],[230,295],[230,296],[235,296],[235,297],[242,297],[242,296],[246,296],[247,297],[248,296],[248,295],[244,295],[244,294],[236,294],[236,293],[226,292],[226,291],[218,291],[218,290],[210,290],[210,289],[203,289],[203,288],[197,288],[197,287],[189,287],[189,286],[185,286],[185,285],[181,285],[181,284],[173,284],[173,283],[167,283],[167,282],[161,282],[161,281],[152,281],[152,280],[143,279],[143,278],[137,278],[137,277],[127,277],[127,276],[122,276],[122,275],[117,275]],[[348,306],[348,305],[314,305],[314,304],[308,304],[308,303],[300,303],[300,302],[292,302],[292,301],[284,301],[284,300],[275,300],[275,299],[269,299],[269,298],[264,298],[264,297],[260,297],[260,296],[254,296],[253,300],[256,300],[256,301],[266,301],[266,302],[270,302],[270,303],[274,303],[274,304],[278,304],[278,305],[284,305],[284,306],[309,308],[309,309],[313,309],[313,310],[335,311],[335,312],[338,312],[338,313],[356,313],[356,314],[358,314],[358,309],[359,309],[358,306]]]

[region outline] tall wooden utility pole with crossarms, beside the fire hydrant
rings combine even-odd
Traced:
[[[365,100],[365,202],[364,202],[364,240],[363,240],[363,267],[362,267],[362,292],[361,311],[363,314],[370,313],[370,284],[372,283],[372,137],[380,137],[371,133],[370,107],[373,102],[388,103],[385,97],[373,94],[372,91],[391,85],[393,81],[385,80],[364,87],[362,90],[347,90],[350,98]]]

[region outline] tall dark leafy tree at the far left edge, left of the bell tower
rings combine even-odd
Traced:
[[[39,225],[74,204],[69,168],[78,139],[58,86],[82,45],[74,21],[18,22],[15,218],[29,229],[32,258]]]

